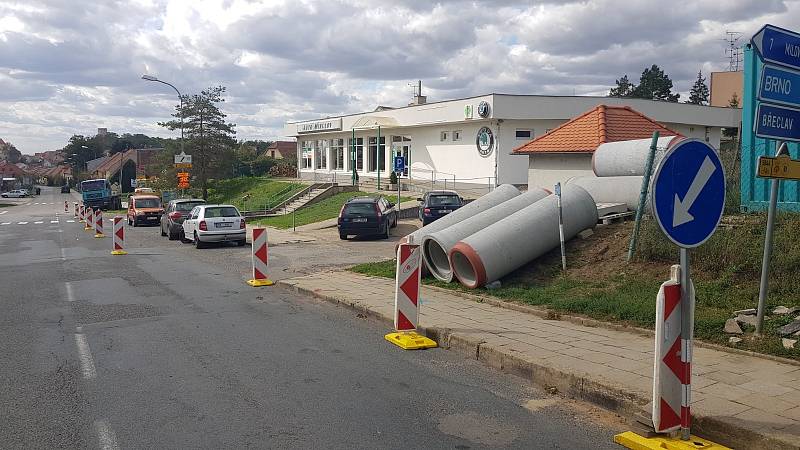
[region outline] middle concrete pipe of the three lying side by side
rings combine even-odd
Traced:
[[[517,211],[547,197],[550,193],[542,188],[533,188],[522,195],[507,200],[486,211],[437,231],[422,239],[422,257],[430,273],[444,282],[453,281],[453,270],[447,254],[456,243],[478,231],[502,220]]]

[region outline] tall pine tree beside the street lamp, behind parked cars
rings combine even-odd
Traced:
[[[170,130],[181,128],[186,139],[185,151],[192,155],[192,171],[203,191],[203,199],[208,199],[208,180],[224,171],[223,161],[236,146],[236,127],[225,121],[227,117],[217,106],[225,99],[224,86],[210,87],[200,94],[184,95],[182,104],[175,107],[176,119],[159,122]]]

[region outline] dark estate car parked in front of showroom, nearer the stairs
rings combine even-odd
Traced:
[[[354,197],[339,211],[339,238],[379,235],[389,238],[389,228],[397,226],[397,208],[383,197]]]

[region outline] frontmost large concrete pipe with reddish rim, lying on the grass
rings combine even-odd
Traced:
[[[597,224],[594,199],[577,185],[561,190],[564,239]],[[559,245],[558,200],[555,195],[459,241],[450,263],[464,286],[477,288],[507,275]]]

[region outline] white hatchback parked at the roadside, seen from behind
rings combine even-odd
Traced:
[[[236,242],[243,246],[247,231],[244,217],[233,205],[198,205],[183,221],[184,242],[203,248],[209,242]]]

